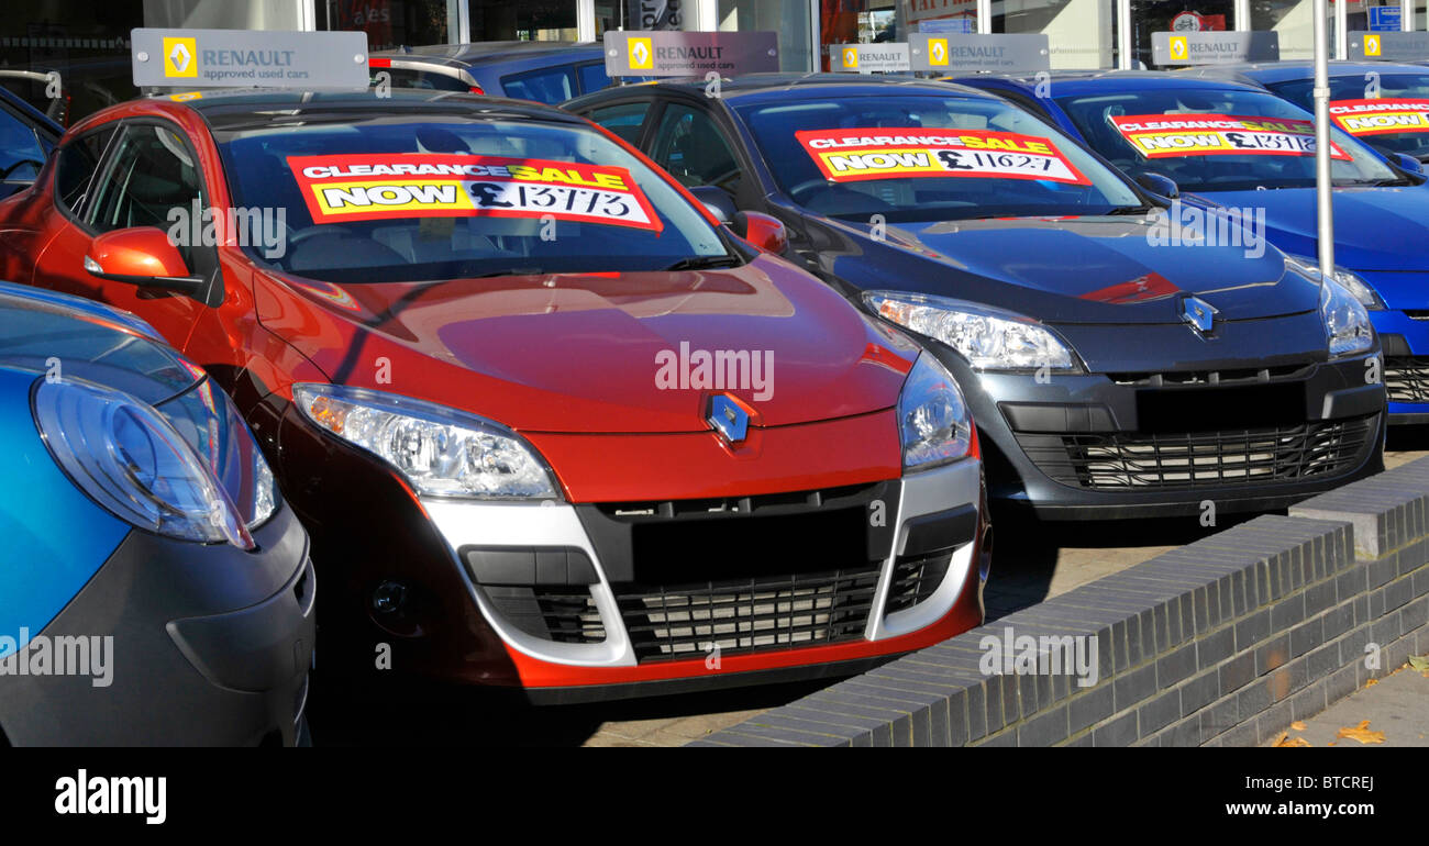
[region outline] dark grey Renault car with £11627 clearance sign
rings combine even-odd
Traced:
[[[1379,343],[1343,287],[1269,244],[1156,243],[1167,200],[1006,100],[752,74],[717,97],[674,80],[566,109],[720,214],[779,217],[790,259],[922,336],[959,377],[1005,504],[1050,519],[1268,510],[1382,466]],[[832,173],[815,144],[869,151]]]

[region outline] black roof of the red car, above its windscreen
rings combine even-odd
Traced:
[[[254,120],[287,121],[313,116],[354,114],[474,114],[490,120],[540,120],[584,126],[586,121],[553,106],[530,100],[487,97],[462,91],[393,89],[386,96],[374,91],[293,91],[286,89],[244,89],[242,91],[203,93],[183,101],[209,121],[216,131],[249,126]]]

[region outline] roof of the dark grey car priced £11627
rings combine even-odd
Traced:
[[[596,94],[590,94],[590,97],[613,97],[619,96],[622,91],[629,93],[632,89],[664,89],[699,93],[703,96],[707,84],[709,83],[706,80],[696,77],[663,79],[634,86],[616,86],[604,89]],[[892,87],[925,94],[947,96],[949,93],[957,93],[973,97],[987,96],[986,91],[979,91],[977,89],[917,79],[907,74],[865,76],[855,73],[747,73],[722,80],[720,97],[726,100],[777,100],[787,99],[790,96],[795,99],[799,99],[800,96],[817,97],[829,93],[840,97],[860,94],[886,96]],[[584,100],[584,97],[580,97],[580,100]]]

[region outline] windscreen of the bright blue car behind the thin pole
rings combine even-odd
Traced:
[[[1315,186],[1315,126],[1273,94],[1240,89],[1149,89],[1056,99],[1093,150],[1125,173],[1160,173],[1186,191]],[[1340,130],[1330,179],[1338,186],[1400,180]]]

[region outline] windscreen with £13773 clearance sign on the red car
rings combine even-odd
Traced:
[[[216,134],[240,219],[282,220],[276,249],[249,254],[309,279],[636,272],[729,254],[664,179],[582,126],[349,114]]]

